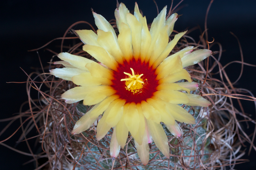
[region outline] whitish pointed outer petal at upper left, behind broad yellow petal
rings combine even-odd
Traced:
[[[118,46],[116,32],[115,32],[114,28],[109,24],[109,22],[100,14],[92,12],[92,15],[95,20],[95,25],[98,27],[98,29],[105,31],[105,32],[111,32],[113,35],[113,38],[116,42],[116,45]]]

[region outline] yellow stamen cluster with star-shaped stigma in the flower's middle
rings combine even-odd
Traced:
[[[125,81],[126,90],[131,91],[133,94],[137,92],[140,93],[140,89],[143,87],[142,84],[144,84],[143,79],[141,79],[141,76],[143,76],[143,74],[135,75],[134,70],[132,68],[130,69],[132,70],[132,75],[130,73],[124,72],[124,74],[129,76],[130,78],[123,78],[121,79],[121,81]]]

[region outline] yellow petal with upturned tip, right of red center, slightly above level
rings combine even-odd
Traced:
[[[166,76],[165,78],[158,80],[158,84],[174,83],[182,79],[188,80],[188,82],[192,82],[188,71],[181,69],[179,72],[173,73],[169,76]]]

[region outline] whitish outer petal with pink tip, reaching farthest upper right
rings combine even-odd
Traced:
[[[185,55],[181,58],[182,66],[188,67],[190,65],[195,65],[199,63],[200,61],[203,61],[205,58],[212,55],[212,51],[208,49],[199,49],[196,51],[193,51],[192,53]]]

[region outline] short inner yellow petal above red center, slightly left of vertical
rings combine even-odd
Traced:
[[[132,59],[132,35],[131,29],[128,25],[120,23],[122,32],[118,35],[118,43],[121,48],[121,51],[124,55],[125,60],[129,63]]]

